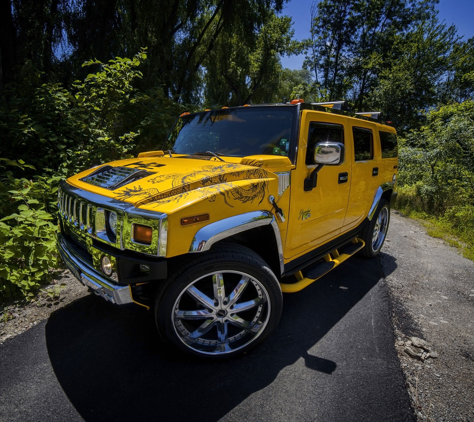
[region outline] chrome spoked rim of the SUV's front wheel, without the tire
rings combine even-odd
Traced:
[[[174,302],[172,322],[184,345],[224,355],[254,342],[271,312],[262,283],[244,272],[210,272],[189,283]]]

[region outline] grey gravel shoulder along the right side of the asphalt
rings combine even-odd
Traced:
[[[418,420],[474,422],[474,263],[393,211],[381,258]],[[425,350],[412,337],[425,340]],[[428,351],[438,357],[422,359]]]

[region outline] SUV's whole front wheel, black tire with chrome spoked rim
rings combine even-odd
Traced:
[[[225,244],[190,257],[171,275],[156,296],[155,320],[165,341],[219,359],[262,343],[282,305],[280,284],[262,258]]]

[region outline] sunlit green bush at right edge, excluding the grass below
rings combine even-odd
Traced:
[[[426,119],[400,140],[399,186],[415,189],[422,211],[433,215],[474,205],[474,102],[441,106]]]

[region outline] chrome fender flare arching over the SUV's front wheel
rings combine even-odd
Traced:
[[[259,227],[261,225],[271,225],[273,233],[275,234],[275,242],[278,248],[278,259],[280,261],[280,272],[283,274],[283,246],[280,229],[276,222],[275,216],[270,211],[251,211],[249,213],[238,214],[224,218],[223,220],[215,221],[205,225],[199,229],[194,235],[189,252],[204,252],[208,251],[210,247],[226,239],[233,234],[244,232],[246,230]]]

